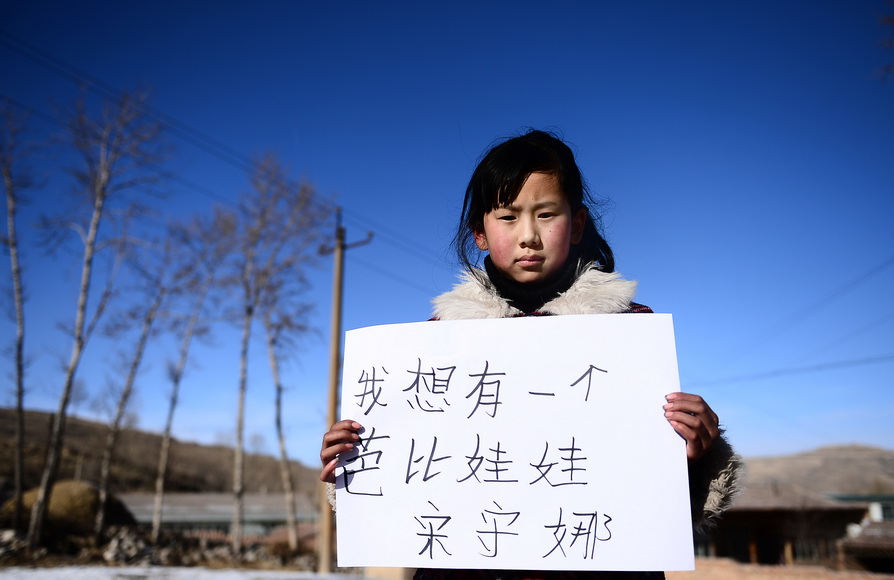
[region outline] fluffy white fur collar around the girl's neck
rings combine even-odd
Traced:
[[[625,312],[636,294],[636,282],[618,273],[584,270],[567,291],[543,305],[545,314],[611,314]],[[501,297],[484,270],[465,272],[453,290],[432,300],[440,320],[509,318],[521,311]]]

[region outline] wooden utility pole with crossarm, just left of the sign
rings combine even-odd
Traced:
[[[334,254],[333,279],[332,279],[332,336],[329,339],[329,406],[326,413],[326,427],[336,422],[338,418],[338,375],[341,368],[341,310],[342,287],[344,286],[345,250],[363,246],[372,241],[372,232],[367,238],[353,244],[345,244],[345,228],[341,225],[341,208],[335,208],[335,247],[320,248],[321,254]],[[332,506],[326,496],[326,485],[323,484],[320,493],[320,530],[319,565],[320,574],[332,572],[332,544],[333,544],[333,519]]]

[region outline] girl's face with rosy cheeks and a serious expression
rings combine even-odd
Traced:
[[[484,214],[475,244],[510,279],[544,282],[559,273],[571,245],[580,242],[586,216],[584,209],[572,215],[556,176],[532,173],[515,201]]]

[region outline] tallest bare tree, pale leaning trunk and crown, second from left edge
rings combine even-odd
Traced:
[[[99,320],[101,308],[104,308],[104,301],[101,300],[92,321],[88,323],[88,297],[93,283],[94,260],[102,246],[100,228],[106,218],[107,206],[123,192],[154,179],[148,170],[159,161],[161,127],[147,118],[144,101],[144,96],[124,94],[94,118],[81,100],[69,120],[71,143],[83,163],[73,175],[80,193],[84,194],[85,207],[89,209],[86,224],[68,224],[79,234],[83,244],[81,279],[72,328],[71,357],[65,370],[59,405],[53,415],[40,488],[31,510],[28,527],[28,543],[31,546],[36,546],[41,540],[46,508],[59,468],[72,384],[87,339]],[[103,298],[108,293],[109,287],[103,292]]]

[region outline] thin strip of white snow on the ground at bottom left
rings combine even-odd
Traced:
[[[270,570],[63,566],[59,568],[0,568],[0,578],[2,580],[357,580],[359,577]]]

